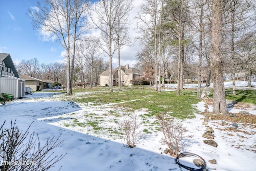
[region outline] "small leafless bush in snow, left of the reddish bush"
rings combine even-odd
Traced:
[[[143,136],[141,130],[139,130],[141,123],[138,121],[139,117],[137,113],[132,114],[132,118],[124,118],[117,123],[118,127],[124,131],[124,134],[119,134],[119,137],[123,143],[125,141],[130,148],[136,147],[138,139]]]

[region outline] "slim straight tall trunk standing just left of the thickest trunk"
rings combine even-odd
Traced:
[[[203,41],[203,9],[204,0],[201,0],[200,8],[200,30],[199,30],[199,59],[198,59],[198,85],[197,85],[197,99],[201,99],[201,80],[202,80],[202,41]]]

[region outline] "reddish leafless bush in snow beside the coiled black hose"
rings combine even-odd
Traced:
[[[175,123],[174,117],[168,117],[166,113],[158,114],[157,119],[164,133],[161,143],[168,145],[168,149],[164,152],[172,156],[178,155],[178,152],[184,148],[184,133],[187,130],[182,127],[181,123]]]

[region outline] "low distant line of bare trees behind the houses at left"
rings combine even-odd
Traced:
[[[68,84],[67,82],[67,65],[60,62],[54,63],[40,63],[38,58],[30,60],[22,60],[17,65],[17,71],[19,75],[27,75],[39,80],[52,80],[62,84],[64,87]],[[91,68],[93,68],[91,70]],[[85,62],[82,69],[80,65],[74,66],[73,74],[73,86],[77,85],[78,79],[81,79],[81,86],[92,86],[100,84],[100,74],[108,69],[108,62],[104,61],[103,58],[95,60],[91,66],[90,63]],[[76,84],[75,84],[76,83]],[[82,84],[84,83],[84,84]]]

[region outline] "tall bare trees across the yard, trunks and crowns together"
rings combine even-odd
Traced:
[[[33,27],[56,38],[65,49],[68,94],[72,94],[75,68],[84,71],[87,63],[92,74],[101,54],[109,57],[109,88],[113,92],[112,58],[117,51],[120,68],[120,49],[132,44],[128,30],[133,2],[44,0],[28,10]],[[212,78],[214,113],[226,114],[224,72],[232,74],[233,94],[235,72],[246,72],[248,78],[256,72],[255,14],[253,0],[144,0],[134,16],[142,47],[136,66],[152,84],[158,83],[155,90],[159,93],[160,78],[165,80],[166,72],[177,78],[177,95],[185,76],[197,76],[197,98],[202,75],[206,86]],[[100,30],[100,36],[91,36],[92,28]]]

